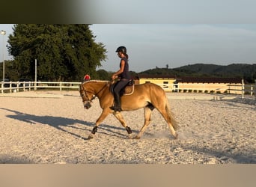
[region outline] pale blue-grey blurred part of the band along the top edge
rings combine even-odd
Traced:
[[[91,23],[252,23],[255,0],[76,0],[66,4],[77,21]]]

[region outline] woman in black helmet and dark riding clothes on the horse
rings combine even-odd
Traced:
[[[120,69],[112,75],[112,80],[117,78],[119,78],[119,80],[114,88],[114,106],[110,108],[114,111],[121,111],[120,91],[128,84],[131,76],[129,75],[127,48],[125,46],[120,46],[115,52],[118,52],[118,57],[121,58],[121,61]]]

